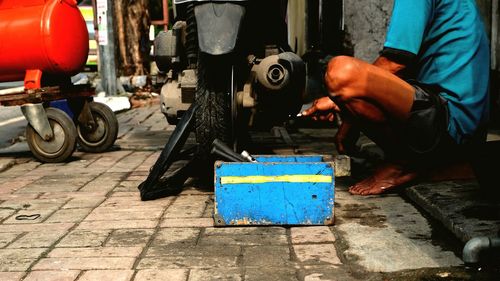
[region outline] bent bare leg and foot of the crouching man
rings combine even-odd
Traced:
[[[410,115],[415,88],[396,75],[351,57],[336,57],[325,77],[333,100],[356,120],[361,130],[388,154],[399,155],[402,140],[396,128]],[[370,195],[402,185],[417,174],[407,159],[391,159],[375,173],[352,186],[353,194]]]

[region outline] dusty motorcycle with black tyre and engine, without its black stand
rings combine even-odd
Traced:
[[[302,106],[306,70],[287,38],[287,0],[176,0],[177,21],[155,38],[166,80],[161,110],[176,124],[196,101],[195,134],[235,150],[249,128],[270,128]]]

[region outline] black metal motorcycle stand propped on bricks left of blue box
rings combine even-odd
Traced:
[[[184,113],[158,160],[151,168],[148,177],[139,185],[142,201],[179,194],[182,191],[184,182],[192,175],[193,167],[198,162],[197,146],[184,151],[181,151],[181,149],[193,129],[196,109],[198,109],[198,104],[195,102]],[[173,172],[172,175],[162,178],[175,161],[187,156],[190,158],[187,164]]]

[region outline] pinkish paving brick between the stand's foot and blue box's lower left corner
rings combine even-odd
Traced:
[[[209,196],[179,196],[165,213],[165,218],[199,218],[203,216]]]

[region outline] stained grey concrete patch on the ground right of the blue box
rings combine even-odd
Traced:
[[[346,244],[343,256],[370,272],[395,272],[462,264],[435,245],[422,214],[397,194],[359,197],[337,184],[336,229]]]

